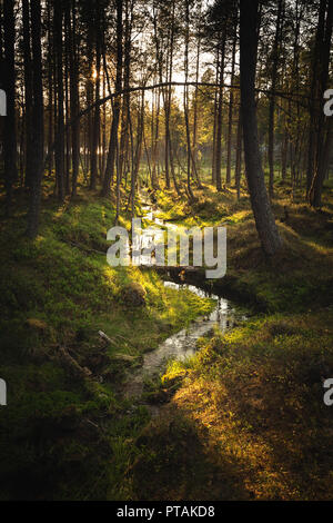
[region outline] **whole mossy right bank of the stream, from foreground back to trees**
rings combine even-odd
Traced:
[[[265,313],[201,341],[185,365],[170,364],[160,387],[175,392],[137,441],[127,476],[133,499],[333,497],[333,411],[323,402],[333,376],[333,195],[327,187],[319,213],[301,191],[291,203],[287,184],[276,189],[284,248],[271,260],[244,194],[238,203],[234,190],[205,186],[190,207],[157,193],[167,219],[228,226],[228,277]]]

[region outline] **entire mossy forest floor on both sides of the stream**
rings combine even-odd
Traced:
[[[279,257],[260,249],[249,198],[205,186],[195,203],[157,191],[161,216],[228,227],[230,290],[255,316],[200,341],[155,384],[160,416],[119,394],[125,372],[212,303],[153,270],[107,265],[110,201],[81,189],[61,208],[44,188],[24,237],[24,195],[1,221],[0,499],[332,499],[333,190],[321,213],[278,184]],[[140,211],[140,208],[138,209]],[[124,219],[121,225],[129,226]],[[98,332],[105,333],[111,343]]]

